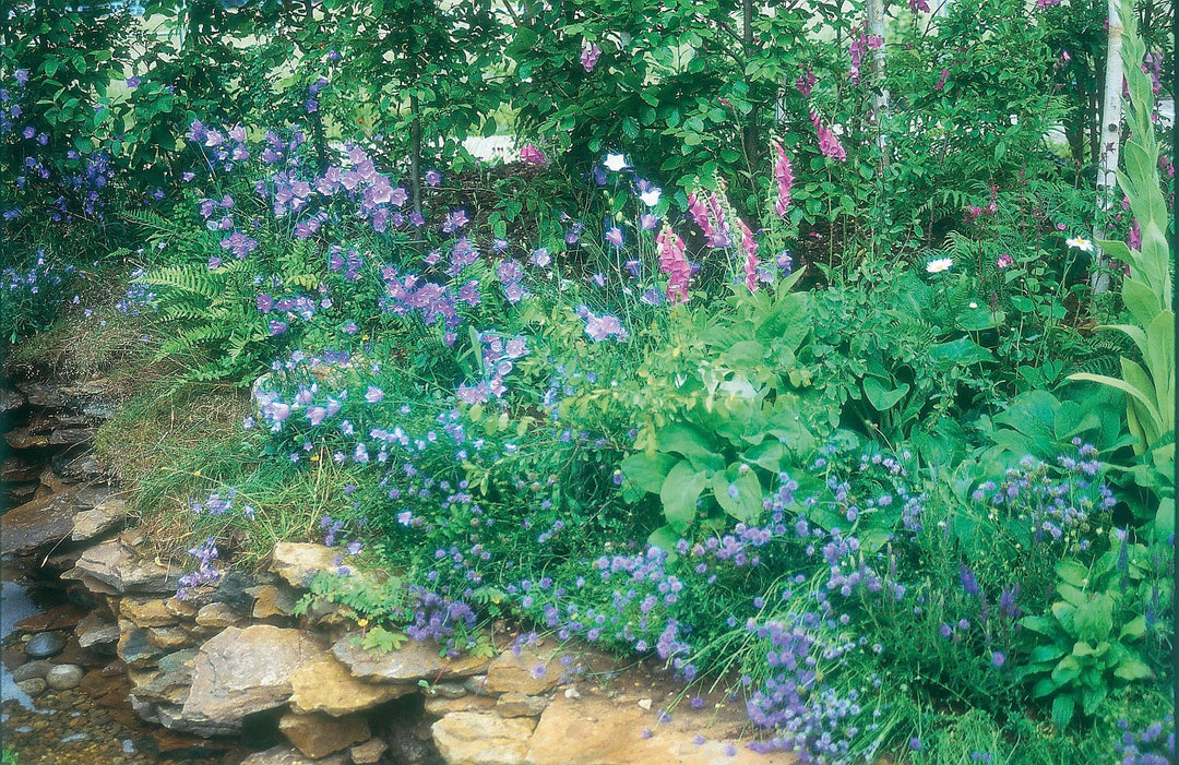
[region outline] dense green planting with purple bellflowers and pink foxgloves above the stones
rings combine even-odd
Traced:
[[[1164,761],[1168,20],[1102,210],[1104,4],[852,5],[39,1],[7,352],[136,377],[100,442],[186,589],[324,540],[369,645],[511,616],[755,748]]]

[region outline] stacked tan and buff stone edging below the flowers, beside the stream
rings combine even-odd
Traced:
[[[397,758],[396,750],[386,751],[396,737],[381,725],[389,723],[388,705],[411,694],[424,697],[428,720],[416,734],[449,765],[797,761],[742,746],[747,720],[736,707],[680,707],[672,723],[658,724],[654,705],[639,704],[646,698],[579,691],[562,674],[554,646],[522,646],[494,659],[447,659],[433,644],[368,651],[357,634],[341,635],[325,619],[303,628],[257,624],[258,613],[292,624],[275,604],[279,598],[296,602],[303,588],[295,582],[309,582],[315,571],[330,569],[334,559],[334,550],[323,546],[285,547],[274,558],[277,583],[261,576],[255,586],[238,582],[226,593],[211,588],[186,601],[171,595],[178,573],[147,559],[136,536],[124,533],[85,550],[72,572],[73,579],[112,593],[118,624],[92,614],[78,622],[77,632],[88,645],[103,646],[117,631],[119,655],[134,682],[133,704],[144,719],[216,737],[241,733],[249,715],[274,711],[288,744],[251,754],[245,763],[252,765]],[[183,647],[162,646],[169,641]],[[27,672],[26,684],[45,682],[48,670]],[[645,727],[653,731],[648,738],[640,733]],[[697,734],[707,739],[697,743]]]

